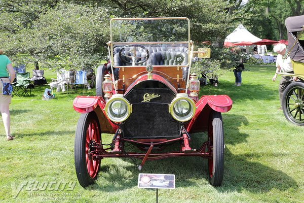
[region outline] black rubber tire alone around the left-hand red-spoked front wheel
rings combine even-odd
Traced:
[[[86,163],[86,139],[87,139],[87,129],[90,122],[97,122],[99,129],[99,136],[101,141],[100,126],[98,118],[95,112],[81,114],[78,120],[77,129],[75,132],[75,143],[74,143],[74,161],[75,161],[75,171],[79,184],[82,187],[88,187],[89,185],[94,184],[95,179],[98,177],[98,171],[100,169],[101,160],[99,160],[99,166],[96,170],[96,175],[90,177],[87,169]],[[93,164],[93,163],[92,163]]]

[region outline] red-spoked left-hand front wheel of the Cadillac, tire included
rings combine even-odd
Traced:
[[[74,159],[77,178],[82,187],[94,183],[100,168],[100,160],[93,160],[92,143],[101,140],[100,126],[95,112],[81,114],[75,133]]]

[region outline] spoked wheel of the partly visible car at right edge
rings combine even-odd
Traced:
[[[282,99],[285,118],[295,125],[304,125],[304,83],[289,84],[283,92]]]

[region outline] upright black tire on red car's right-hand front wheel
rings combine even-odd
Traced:
[[[210,114],[208,141],[213,147],[213,158],[208,159],[209,182],[220,186],[224,174],[224,131],[221,113],[216,111]]]

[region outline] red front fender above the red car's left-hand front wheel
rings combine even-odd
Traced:
[[[77,96],[73,100],[73,108],[79,113],[94,111],[98,117],[101,132],[115,133],[118,126],[113,124],[105,115],[105,101],[101,96]]]

